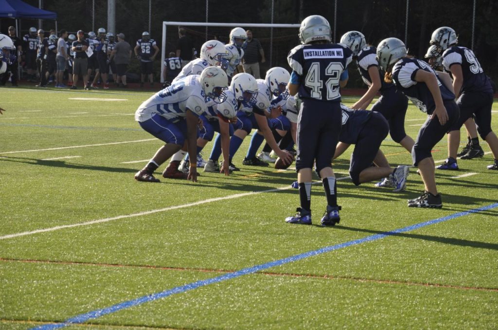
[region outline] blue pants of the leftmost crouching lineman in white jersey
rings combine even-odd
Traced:
[[[166,143],[183,146],[187,137],[187,121],[180,119],[172,122],[163,116],[154,115],[143,122],[138,122],[140,127]]]

